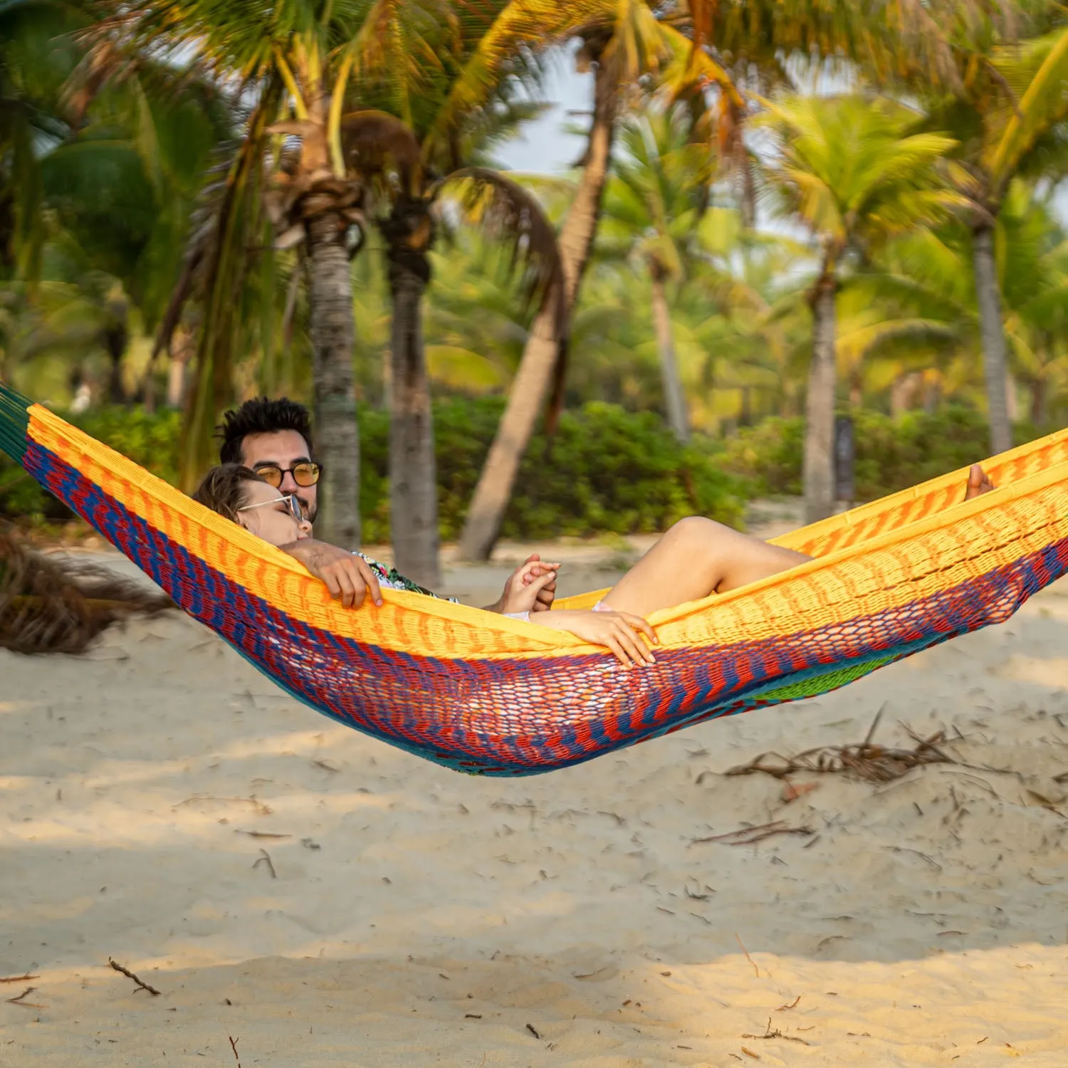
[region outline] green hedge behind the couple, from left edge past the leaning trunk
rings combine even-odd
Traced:
[[[500,398],[435,405],[441,536],[459,536],[490,442]],[[177,478],[179,415],[108,408],[72,422],[169,482]],[[364,540],[389,540],[389,417],[360,412]],[[740,483],[720,470],[710,445],[682,449],[651,413],[611,405],[565,412],[551,445],[531,442],[502,534],[515,538],[654,532],[691,514],[740,525]],[[70,513],[21,469],[0,461],[0,514],[64,520]]]

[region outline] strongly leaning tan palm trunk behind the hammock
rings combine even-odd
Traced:
[[[564,269],[565,321],[569,320],[575,308],[597,234],[618,106],[619,85],[614,64],[598,62],[594,75],[594,114],[582,177],[559,238]],[[562,342],[559,316],[552,304],[551,300],[546,302],[531,327],[501,425],[497,428],[497,437],[475,487],[460,536],[460,556],[465,560],[489,559],[512,497],[519,464],[545,405]]]

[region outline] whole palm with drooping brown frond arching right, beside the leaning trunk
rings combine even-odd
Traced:
[[[465,20],[460,32],[438,42],[440,69],[418,100],[404,101],[405,121],[378,110],[348,115],[343,139],[365,177],[384,242],[391,300],[390,332],[390,531],[396,566],[417,582],[439,581],[438,483],[434,454],[430,380],[423,328],[423,296],[430,282],[430,252],[443,202],[458,215],[504,238],[522,260],[529,299],[560,314],[561,269],[552,226],[537,201],[503,174],[465,166],[501,125],[514,126],[509,84],[494,92],[496,107],[455,106],[452,89],[486,26]],[[357,90],[368,103],[393,104],[373,80]],[[379,169],[378,160],[404,166]],[[455,210],[458,209],[458,210]]]

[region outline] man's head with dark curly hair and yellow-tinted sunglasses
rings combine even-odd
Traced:
[[[225,412],[217,433],[223,464],[244,465],[295,496],[315,521],[319,467],[312,460],[311,419],[303,405],[286,397],[255,397]]]

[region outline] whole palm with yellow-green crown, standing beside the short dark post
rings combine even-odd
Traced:
[[[780,214],[801,222],[818,249],[810,293],[812,363],[805,404],[807,521],[833,511],[835,297],[851,258],[889,236],[937,222],[967,201],[946,186],[942,157],[954,142],[910,134],[921,116],[888,100],[801,97],[767,101],[781,137],[765,177]]]

